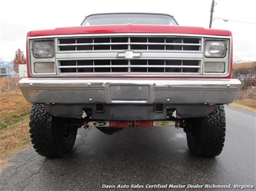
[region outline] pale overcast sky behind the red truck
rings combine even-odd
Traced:
[[[30,30],[73,27],[88,14],[154,12],[172,14],[180,25],[208,28],[212,0],[0,0],[0,60],[25,52]],[[256,60],[256,1],[215,0],[212,28],[234,37],[234,58]],[[229,19],[224,22],[223,18]]]

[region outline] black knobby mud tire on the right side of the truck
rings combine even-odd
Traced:
[[[187,132],[187,146],[196,157],[216,157],[221,154],[226,135],[224,106],[204,118],[196,118]]]

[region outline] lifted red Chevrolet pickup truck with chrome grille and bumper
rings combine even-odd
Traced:
[[[113,134],[129,126],[176,126],[190,152],[215,157],[224,146],[224,104],[236,98],[231,32],[179,26],[168,14],[92,14],[79,27],[27,33],[38,154],[63,157],[77,129]]]

